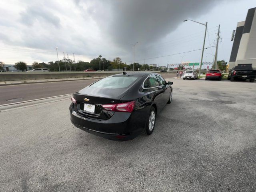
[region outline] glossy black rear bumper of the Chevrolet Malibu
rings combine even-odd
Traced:
[[[74,111],[73,104],[70,105],[70,120],[74,126],[110,140],[125,141],[138,136],[141,129],[131,123],[133,119],[132,113],[124,112],[115,112],[108,120],[87,118]]]

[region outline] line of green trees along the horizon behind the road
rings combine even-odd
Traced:
[[[122,62],[122,60],[117,57],[114,58],[113,61],[107,60],[106,58],[102,58],[102,56],[98,56],[98,58],[92,59],[90,62],[84,62],[81,60],[78,60],[77,62],[74,62],[71,59],[63,58],[59,61],[50,61],[48,63],[45,62],[33,62],[32,69],[36,68],[47,68],[50,71],[83,71],[86,69],[92,69],[92,70],[133,70],[133,63],[132,64],[125,64]],[[14,67],[17,70],[26,71],[27,70],[27,63],[25,62],[16,62],[14,64]],[[139,64],[134,63],[134,70],[155,70],[152,66],[149,66],[148,64]]]

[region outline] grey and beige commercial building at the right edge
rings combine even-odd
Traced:
[[[228,69],[238,64],[256,68],[256,7],[247,12],[246,20],[238,22]]]

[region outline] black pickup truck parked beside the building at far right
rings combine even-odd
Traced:
[[[238,64],[238,66],[233,67],[229,70],[228,80],[246,80],[249,79],[250,82],[254,82],[256,78],[256,70],[252,69],[252,64]]]

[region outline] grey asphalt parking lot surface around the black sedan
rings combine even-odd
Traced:
[[[70,100],[0,112],[0,191],[256,190],[256,83],[180,80],[150,136],[70,122]]]

